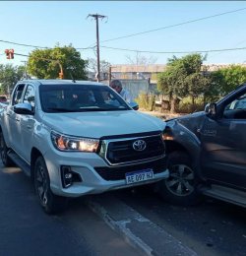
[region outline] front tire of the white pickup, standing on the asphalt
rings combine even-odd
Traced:
[[[66,209],[67,198],[54,195],[50,189],[48,170],[42,157],[35,160],[33,182],[39,204],[46,214],[58,214]]]

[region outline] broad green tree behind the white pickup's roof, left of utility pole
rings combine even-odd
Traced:
[[[28,72],[38,79],[55,79],[63,71],[64,79],[86,80],[88,62],[71,45],[50,49],[36,49],[31,52]]]

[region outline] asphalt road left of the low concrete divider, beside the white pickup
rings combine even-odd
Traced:
[[[47,216],[31,180],[19,168],[0,164],[0,255],[139,255],[87,207],[70,202],[60,216]]]

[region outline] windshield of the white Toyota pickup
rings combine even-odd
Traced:
[[[131,109],[107,86],[58,84],[39,87],[44,112],[113,111]]]

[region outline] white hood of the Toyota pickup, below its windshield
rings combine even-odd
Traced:
[[[57,132],[91,138],[163,131],[165,128],[161,119],[136,110],[45,113],[42,119]]]

